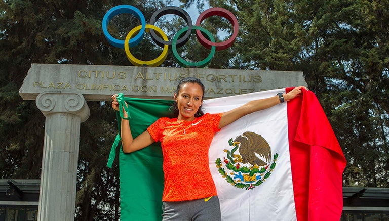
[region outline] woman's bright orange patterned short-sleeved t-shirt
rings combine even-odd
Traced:
[[[193,121],[160,118],[147,131],[161,141],[164,155],[163,201],[184,201],[216,196],[208,150],[219,131],[222,114],[204,114]]]

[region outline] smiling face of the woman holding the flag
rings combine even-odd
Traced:
[[[195,114],[203,103],[203,89],[197,83],[185,83],[180,91],[174,94],[178,106],[178,120],[195,120]]]

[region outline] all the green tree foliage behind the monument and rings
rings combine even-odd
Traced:
[[[196,4],[199,11],[204,10],[204,1],[181,2],[184,7]],[[168,3],[0,2],[2,179],[40,177],[45,117],[34,101],[23,101],[18,94],[31,63],[86,64],[88,60],[98,65],[131,65],[124,51],[104,38],[104,14],[112,6],[130,4],[149,20]],[[233,12],[240,32],[234,45],[217,52],[208,67],[303,71],[346,156],[344,185],[388,187],[389,1],[212,0],[209,5]],[[108,30],[124,39],[135,21],[117,17]],[[173,24],[177,30],[182,20]],[[229,22],[223,19],[206,19],[202,26],[217,41],[228,37],[217,36],[220,29],[231,34]],[[175,31],[170,25],[166,28]],[[144,60],[160,53],[150,40],[133,50]],[[203,60],[208,53],[196,37],[181,51],[188,61]],[[171,53],[168,60],[172,60]],[[107,159],[114,140],[115,116],[109,104],[88,105],[91,117],[81,125],[76,220],[117,220],[118,168],[107,169],[101,160]]]

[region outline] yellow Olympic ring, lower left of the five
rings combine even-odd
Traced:
[[[169,49],[169,45],[164,45],[164,50],[162,51],[161,55],[158,56],[157,58],[153,59],[153,60],[150,60],[150,61],[142,61],[142,60],[139,60],[137,58],[135,58],[131,52],[130,52],[130,48],[128,46],[128,42],[130,41],[130,39],[136,35],[139,30],[142,28],[142,25],[139,25],[135,28],[133,28],[130,32],[128,32],[127,36],[126,36],[126,40],[124,41],[124,50],[126,51],[126,55],[127,55],[127,58],[128,60],[135,66],[143,66],[143,65],[146,65],[146,66],[151,66],[151,67],[157,67],[159,66],[160,64],[162,64],[162,62],[164,62],[164,60],[166,59],[166,57],[168,56],[168,49]],[[154,31],[156,31],[156,33],[162,38],[164,39],[165,41],[168,41],[168,37],[166,36],[166,34],[164,33],[163,30],[161,30],[159,27],[157,26],[154,26],[154,25],[148,25],[146,24],[146,32],[149,33],[149,29],[153,29]]]

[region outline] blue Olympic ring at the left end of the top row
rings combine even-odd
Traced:
[[[143,39],[143,35],[144,35],[145,30],[146,30],[146,19],[144,18],[144,15],[142,14],[142,12],[139,11],[139,9],[137,9],[133,6],[130,6],[130,5],[119,5],[119,6],[115,6],[112,9],[110,9],[107,13],[105,13],[104,18],[103,18],[103,22],[102,22],[103,33],[104,33],[105,38],[108,40],[109,43],[111,43],[111,45],[113,45],[114,47],[117,47],[117,48],[121,48],[121,49],[124,49],[124,42],[125,41],[112,37],[108,32],[107,26],[109,24],[109,21],[114,16],[119,15],[119,14],[123,14],[123,13],[129,13],[129,14],[136,16],[140,20],[140,23],[141,23],[141,29],[139,30],[139,33],[135,37],[131,38],[130,41],[128,42],[129,47],[136,46]]]

